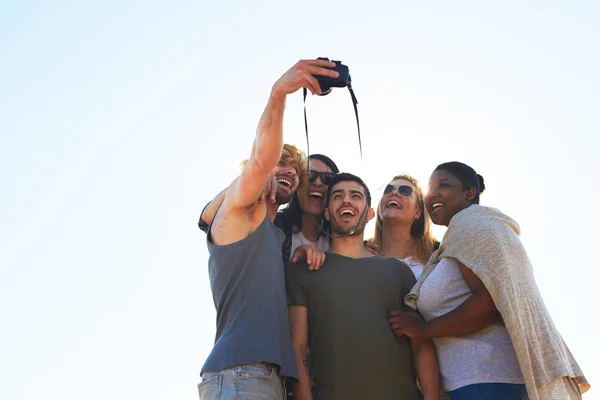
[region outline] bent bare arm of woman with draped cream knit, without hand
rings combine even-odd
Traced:
[[[500,319],[500,314],[485,285],[473,271],[458,263],[463,279],[473,293],[454,310],[425,324],[427,338],[461,336],[477,332]]]

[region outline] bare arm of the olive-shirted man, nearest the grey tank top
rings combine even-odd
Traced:
[[[298,369],[298,382],[292,385],[294,400],[312,400],[310,377],[308,375],[308,309],[304,306],[289,306],[292,346]]]

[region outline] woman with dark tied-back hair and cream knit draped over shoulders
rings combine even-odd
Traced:
[[[463,163],[431,174],[425,206],[448,229],[406,297],[425,321],[393,313],[391,327],[433,339],[452,400],[581,399],[589,385],[544,306],[519,226],[479,205],[484,189]]]

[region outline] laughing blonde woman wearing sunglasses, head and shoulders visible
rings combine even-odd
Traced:
[[[417,180],[409,175],[395,176],[377,206],[370,247],[385,257],[404,261],[418,280],[437,245],[430,225]]]

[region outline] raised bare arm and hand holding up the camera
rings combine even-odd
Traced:
[[[305,87],[313,94],[320,93],[313,75],[336,78],[338,73],[330,68],[335,64],[324,60],[299,61],[290,68],[271,90],[269,101],[258,124],[252,153],[242,174],[227,189],[227,202],[231,207],[244,208],[260,197],[271,170],[277,165],[283,147],[283,112],[286,96]]]

